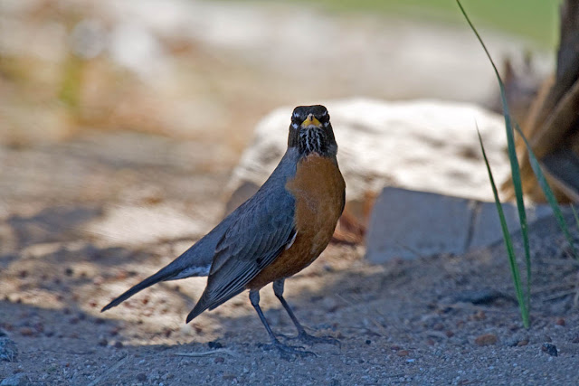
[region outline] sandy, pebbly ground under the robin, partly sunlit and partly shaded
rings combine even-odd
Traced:
[[[330,245],[287,281],[286,294],[313,334],[334,336],[341,346],[307,346],[317,356],[292,361],[261,348],[268,338],[246,294],[185,325],[204,278],[157,285],[100,314],[223,211],[226,167],[203,168],[198,153],[178,151],[193,144],[134,136],[100,133],[2,149],[0,339],[12,340],[18,353],[13,362],[0,362],[0,379],[24,374],[21,381],[34,385],[579,382],[577,264],[549,221],[531,228],[528,330],[500,245],[384,266],[366,263],[361,246]],[[123,146],[137,139],[141,146]],[[171,228],[179,216],[192,219],[189,229]],[[274,331],[295,334],[271,287],[262,291],[261,305]]]

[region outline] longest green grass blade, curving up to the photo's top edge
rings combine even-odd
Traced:
[[[470,22],[469,16],[466,14],[466,11],[460,4],[460,0],[456,0],[457,4],[460,7],[460,12],[466,19],[467,23],[470,26],[472,32],[477,36],[480,45],[482,46],[484,52],[487,54],[487,58],[489,58],[490,64],[492,65],[493,71],[495,71],[495,75],[498,80],[498,87],[500,89],[500,99],[503,105],[503,116],[505,118],[505,130],[507,133],[507,146],[508,146],[508,160],[510,163],[510,170],[511,170],[511,178],[513,181],[513,187],[515,190],[515,197],[517,199],[517,212],[518,212],[518,221],[521,226],[521,235],[523,238],[523,247],[525,249],[525,262],[527,267],[527,308],[530,307],[530,294],[531,294],[531,249],[529,245],[528,239],[528,226],[527,226],[527,212],[525,211],[525,202],[523,200],[523,184],[521,182],[521,174],[520,174],[520,166],[518,165],[518,158],[517,158],[517,151],[515,148],[515,136],[513,131],[513,125],[510,116],[510,110],[508,108],[507,97],[505,93],[505,85],[503,84],[500,75],[498,74],[497,66],[495,62],[492,60],[490,56],[489,50],[487,46],[482,41],[482,38],[479,35],[479,32],[474,27],[474,25]]]

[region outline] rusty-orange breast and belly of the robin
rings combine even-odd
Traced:
[[[344,209],[346,184],[331,158],[308,155],[299,161],[296,176],[286,189],[296,199],[297,236],[268,267],[247,285],[259,289],[308,267],[326,249]]]

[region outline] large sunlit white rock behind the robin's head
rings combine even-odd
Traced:
[[[346,179],[346,199],[378,193],[384,185],[492,201],[477,126],[495,180],[508,175],[504,121],[474,105],[436,100],[324,102]],[[228,188],[262,184],[285,152],[291,108],[263,118]]]

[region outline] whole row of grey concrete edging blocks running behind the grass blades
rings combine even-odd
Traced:
[[[570,212],[566,206],[563,212]],[[508,231],[519,235],[517,206],[503,203]],[[527,207],[527,222],[552,216],[548,204]],[[440,253],[460,254],[502,240],[494,202],[387,187],[378,196],[366,235],[366,259],[416,259]]]

